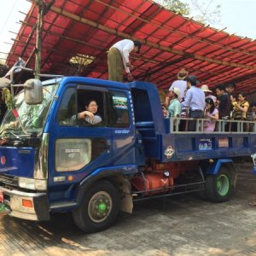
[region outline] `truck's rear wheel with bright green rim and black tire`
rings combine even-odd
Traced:
[[[206,179],[206,195],[212,202],[229,201],[231,193],[230,172],[221,167],[217,175],[209,175]]]

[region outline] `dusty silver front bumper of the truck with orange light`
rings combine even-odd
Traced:
[[[30,193],[0,187],[3,203],[10,216],[29,220],[49,220],[49,201],[46,193]],[[24,207],[23,200],[32,201],[32,207]]]

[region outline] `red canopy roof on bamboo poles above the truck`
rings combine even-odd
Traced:
[[[34,67],[37,17],[33,5],[9,53],[9,66],[20,56],[28,61],[26,67]],[[44,15],[41,71],[108,79],[106,51],[122,38],[143,43],[141,54],[131,55],[136,79],[165,89],[186,67],[210,88],[234,81],[239,90],[256,91],[254,40],[204,26],[149,0],[55,1]],[[93,61],[71,64],[76,55]]]

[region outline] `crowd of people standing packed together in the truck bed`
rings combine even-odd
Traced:
[[[200,82],[195,75],[189,75],[185,68],[177,73],[175,80],[163,103],[163,113],[166,118],[205,119],[203,131],[217,131],[218,119],[250,120],[256,119],[256,102],[248,102],[243,92],[236,92],[236,84],[219,84],[215,92],[207,84],[198,86]],[[175,124],[177,125],[177,124]],[[196,131],[196,121],[180,120],[178,131]],[[237,131],[237,122],[226,122],[225,131]],[[250,124],[243,125],[243,131],[252,131]]]

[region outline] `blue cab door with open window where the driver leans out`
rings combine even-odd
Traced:
[[[112,164],[113,129],[108,127],[106,112],[108,90],[76,84],[65,88],[55,121],[49,127],[49,188],[61,181],[68,186],[79,183],[96,169]],[[91,124],[85,116],[79,118],[78,113],[84,113],[91,101],[97,106],[94,115],[101,119],[99,123]]]

